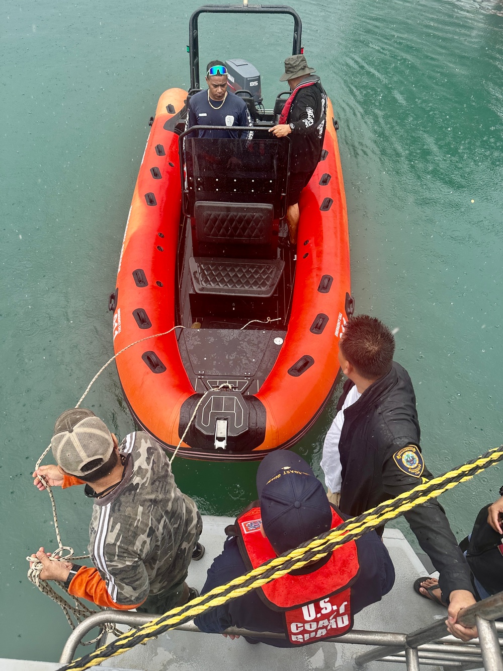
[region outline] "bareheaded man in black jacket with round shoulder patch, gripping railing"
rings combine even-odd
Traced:
[[[321,467],[329,500],[339,499],[347,515],[360,515],[432,477],[421,454],[412,382],[393,354],[394,337],[379,319],[359,315],[345,325],[339,363],[348,380],[325,437]],[[470,639],[476,629],[456,623],[459,609],[475,603],[469,568],[443,508],[431,500],[404,517],[440,572],[449,631]]]

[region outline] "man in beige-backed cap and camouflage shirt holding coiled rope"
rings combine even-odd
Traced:
[[[71,595],[99,606],[162,614],[197,597],[185,582],[190,559],[201,559],[201,515],[182,494],[164,450],[148,433],[121,442],[84,408],[56,420],[51,441],[56,464],[34,472],[41,491],[85,484],[94,499],[89,554],[96,568],[50,559],[44,548],[42,580],[59,580]]]

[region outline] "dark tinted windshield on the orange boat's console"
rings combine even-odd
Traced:
[[[274,138],[256,129],[252,140],[185,135],[180,136],[180,170],[186,215],[192,215],[197,201],[217,201],[270,203],[274,217],[284,216],[290,164],[288,138]]]

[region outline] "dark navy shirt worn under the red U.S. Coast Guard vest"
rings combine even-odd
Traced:
[[[370,531],[356,541],[360,572],[351,586],[351,609],[358,613],[361,609],[387,594],[393,586],[395,574],[388,550],[375,531]],[[223,552],[208,569],[205,586],[201,594],[223,585],[237,576],[247,573],[237,538],[229,537]],[[306,574],[309,580],[309,574]],[[250,631],[276,631],[284,633],[284,615],[268,608],[258,597],[256,590],[248,592],[207,613],[198,615],[194,623],[207,633],[221,633],[227,627],[239,627]],[[276,648],[298,648],[298,644],[284,639],[261,639],[262,643]],[[308,644],[308,643],[306,643]]]

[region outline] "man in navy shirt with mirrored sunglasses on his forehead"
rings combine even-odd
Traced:
[[[221,60],[211,60],[207,65],[207,91],[200,91],[188,102],[185,130],[194,125],[250,126],[251,117],[245,101],[227,91],[227,68]],[[253,132],[249,131],[247,140]],[[237,138],[239,131],[200,130],[200,138]]]

